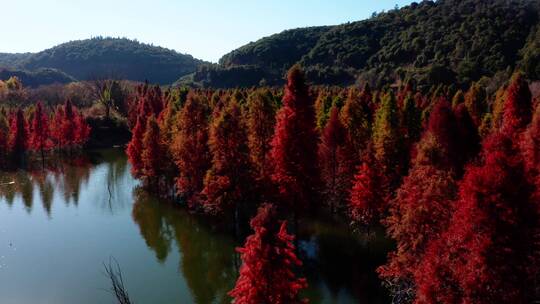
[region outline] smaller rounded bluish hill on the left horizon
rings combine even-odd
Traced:
[[[191,55],[125,38],[97,37],[34,54],[0,54],[0,66],[52,68],[78,80],[112,77],[159,84],[170,84],[203,63]]]

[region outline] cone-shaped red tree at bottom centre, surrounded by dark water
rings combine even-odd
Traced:
[[[236,286],[229,292],[233,303],[306,303],[299,291],[307,287],[307,282],[294,274],[294,268],[302,262],[296,257],[294,237],[287,233],[286,222],[280,223],[274,207],[264,204],[251,220],[251,227],[254,234],[238,248],[242,266]]]

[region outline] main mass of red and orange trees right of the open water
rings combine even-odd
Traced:
[[[522,74],[493,95],[310,89],[298,67],[283,92],[137,92],[127,154],[144,185],[220,218],[259,208],[235,303],[300,302],[278,219],[321,209],[386,227],[378,272],[396,302],[538,299],[540,106]]]

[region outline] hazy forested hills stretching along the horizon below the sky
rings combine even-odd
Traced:
[[[0,53],[0,67],[33,73],[33,85],[98,77],[214,88],[281,85],[296,63],[310,82],[327,85],[466,85],[516,67],[538,79],[539,7],[539,0],[422,1],[367,20],[286,30],[225,54],[218,64],[98,37],[39,53]],[[37,70],[43,68],[48,80],[40,81]]]

